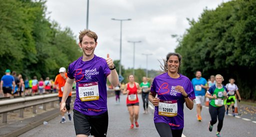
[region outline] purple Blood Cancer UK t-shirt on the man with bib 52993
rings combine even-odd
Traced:
[[[67,76],[76,81],[74,109],[84,115],[100,115],[107,111],[106,77],[110,74],[106,60],[79,57],[68,66]]]

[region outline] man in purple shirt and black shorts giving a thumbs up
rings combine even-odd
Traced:
[[[60,111],[65,112],[65,100],[76,81],[73,121],[76,137],[106,137],[108,127],[106,79],[118,85],[118,75],[109,54],[106,59],[94,55],[97,35],[90,30],[79,33],[83,55],[68,66],[67,80]]]

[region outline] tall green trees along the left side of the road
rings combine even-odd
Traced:
[[[0,73],[51,77],[81,56],[73,33],[46,18],[45,0],[0,0]]]

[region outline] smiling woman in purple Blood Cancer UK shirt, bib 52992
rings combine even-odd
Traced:
[[[195,99],[190,80],[178,73],[181,55],[168,53],[162,69],[154,78],[148,96],[155,106],[154,126],[160,137],[181,137],[184,127],[183,104],[191,110]]]

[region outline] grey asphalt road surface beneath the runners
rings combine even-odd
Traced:
[[[153,124],[153,107],[149,103],[149,114],[142,114],[143,107],[140,95],[139,128],[129,129],[130,122],[125,97],[121,96],[120,104],[115,103],[114,97],[107,99],[109,116],[107,137],[159,137]],[[217,125],[213,126],[212,132],[207,129],[210,120],[207,108],[202,109],[202,122],[196,121],[195,106],[193,110],[188,110],[184,106],[184,114],[184,137],[215,137]],[[224,117],[223,128],[220,132],[221,137],[256,137],[256,123],[240,117]],[[42,124],[19,137],[75,137],[73,121],[67,120],[66,123],[60,124],[60,119],[61,117],[58,116],[49,121],[47,125]]]

